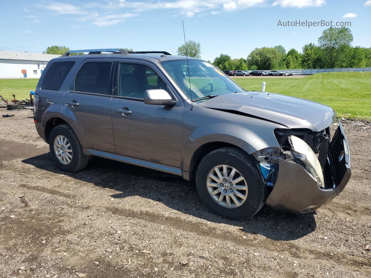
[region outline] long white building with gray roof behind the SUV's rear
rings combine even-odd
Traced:
[[[40,78],[55,57],[60,55],[0,50],[0,78]]]

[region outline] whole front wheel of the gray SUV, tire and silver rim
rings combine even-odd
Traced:
[[[207,208],[235,220],[255,215],[266,198],[262,175],[237,148],[221,148],[206,155],[197,168],[196,186]]]

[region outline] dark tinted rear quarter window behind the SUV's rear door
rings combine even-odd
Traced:
[[[58,91],[75,62],[55,62],[48,66],[41,89]]]

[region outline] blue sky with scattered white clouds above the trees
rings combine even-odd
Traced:
[[[280,27],[278,21],[351,21],[352,45],[371,47],[371,0],[0,0],[0,50],[42,52],[128,47],[176,54],[185,37],[201,57],[246,58],[255,47],[301,51],[328,27]]]

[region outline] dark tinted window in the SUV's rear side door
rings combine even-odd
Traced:
[[[87,62],[76,75],[75,91],[112,95],[109,89],[111,62]]]

